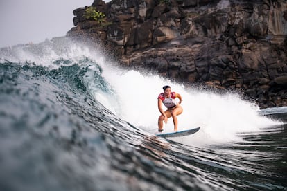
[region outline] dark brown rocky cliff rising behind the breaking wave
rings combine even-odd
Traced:
[[[67,35],[101,39],[124,66],[186,84],[237,89],[261,108],[287,105],[285,0],[113,0],[74,10]]]

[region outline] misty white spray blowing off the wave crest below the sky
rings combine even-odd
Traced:
[[[67,37],[56,37],[39,44],[3,48],[0,52],[0,62],[8,60],[22,64],[33,63],[47,69],[58,69],[63,65],[78,64],[85,57],[95,57],[101,61],[103,55],[98,50],[99,48],[91,49],[82,43],[72,42]],[[58,60],[69,60],[69,63],[55,64]]]

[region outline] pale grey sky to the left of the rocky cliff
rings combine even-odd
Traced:
[[[73,10],[94,0],[0,0],[0,47],[65,36]]]

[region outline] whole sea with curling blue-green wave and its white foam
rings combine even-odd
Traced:
[[[0,190],[284,190],[287,108],[120,69],[65,37],[0,51]],[[157,131],[166,84],[182,138]],[[164,131],[172,131],[168,120]]]

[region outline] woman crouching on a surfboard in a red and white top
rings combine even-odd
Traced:
[[[164,122],[166,123],[170,117],[173,117],[174,130],[177,131],[177,116],[183,111],[182,106],[180,105],[182,103],[182,96],[180,96],[179,93],[172,92],[170,86],[164,86],[162,89],[164,89],[164,92],[159,93],[159,96],[157,97],[157,106],[159,112],[162,113],[162,115],[159,116],[158,121],[159,132],[164,130]],[[175,98],[178,98],[180,101]],[[162,104],[167,108],[166,111],[162,109]]]

